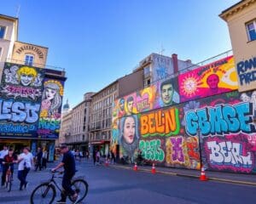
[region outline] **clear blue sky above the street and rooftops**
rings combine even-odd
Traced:
[[[228,26],[218,17],[238,0],[2,1],[15,16],[19,41],[49,48],[47,65],[65,68],[64,100],[79,104],[123,77],[151,53],[193,63],[231,49]]]

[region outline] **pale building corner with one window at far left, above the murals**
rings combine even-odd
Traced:
[[[15,41],[18,38],[17,18],[0,14],[0,76],[6,59],[11,58]]]

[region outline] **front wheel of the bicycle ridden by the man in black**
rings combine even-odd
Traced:
[[[30,203],[51,204],[55,200],[55,196],[56,190],[54,185],[49,183],[39,184],[38,187],[32,191],[32,195],[30,196]]]

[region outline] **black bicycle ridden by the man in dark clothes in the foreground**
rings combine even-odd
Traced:
[[[62,178],[60,176],[56,176],[55,173],[61,174],[62,172],[59,172],[59,171],[52,172],[52,176],[48,182],[39,184],[38,187],[36,187],[32,191],[32,195],[30,196],[31,204],[38,204],[38,203],[51,204],[53,203],[53,201],[55,201],[56,188],[57,190],[61,191],[61,187],[55,182],[55,178]],[[87,182],[83,178],[75,178],[73,179],[71,184],[72,184],[72,189],[79,195],[79,200],[73,201],[72,195],[67,195],[68,199],[72,201],[73,204],[83,201],[85,196],[88,193],[89,185],[87,184]]]

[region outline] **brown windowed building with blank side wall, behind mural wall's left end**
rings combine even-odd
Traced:
[[[92,96],[90,111],[90,152],[100,150],[108,155],[115,99],[143,88],[143,70],[120,77]]]

